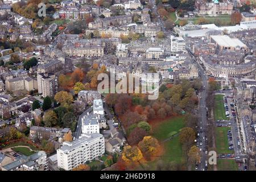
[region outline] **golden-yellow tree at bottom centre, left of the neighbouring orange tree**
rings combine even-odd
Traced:
[[[137,146],[125,146],[122,152],[122,160],[126,164],[131,164],[133,162],[138,162],[143,158],[141,150]]]

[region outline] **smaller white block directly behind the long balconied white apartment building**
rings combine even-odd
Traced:
[[[92,114],[85,115],[82,118],[82,133],[100,133],[100,123],[98,122],[98,118],[94,117]]]

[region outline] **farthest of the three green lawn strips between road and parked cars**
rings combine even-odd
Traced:
[[[225,107],[223,102],[223,96],[222,94],[216,94],[214,95],[214,119],[217,120],[228,120],[225,114]]]

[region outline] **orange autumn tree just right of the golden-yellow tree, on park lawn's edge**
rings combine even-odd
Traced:
[[[138,147],[144,155],[154,155],[158,151],[159,143],[154,137],[147,136],[139,142]]]

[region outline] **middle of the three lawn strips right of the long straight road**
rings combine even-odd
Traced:
[[[230,127],[216,127],[216,150],[217,154],[233,154],[233,150],[229,150],[228,130]]]

